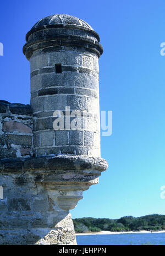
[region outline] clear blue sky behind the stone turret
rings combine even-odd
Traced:
[[[1,2],[1,96],[29,104],[25,34],[41,18],[66,13],[100,35],[100,110],[113,111],[113,134],[101,137],[109,167],[84,192],[75,217],[165,214],[165,2],[162,0],[47,0]]]

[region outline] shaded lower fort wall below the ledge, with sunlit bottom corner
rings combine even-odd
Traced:
[[[21,161],[0,160],[0,244],[76,244],[72,217],[56,203],[60,193],[38,179]]]

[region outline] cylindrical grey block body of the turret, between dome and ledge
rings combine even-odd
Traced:
[[[43,49],[45,50],[45,49]],[[98,57],[94,53],[63,47],[30,58],[31,106],[34,108],[35,156],[50,154],[100,156],[100,111],[98,105]],[[55,64],[61,63],[62,73]],[[53,130],[54,111],[66,107],[80,111],[76,130]],[[74,118],[70,118],[70,123]]]

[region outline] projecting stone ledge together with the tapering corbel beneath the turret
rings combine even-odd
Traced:
[[[43,156],[28,159],[0,160],[2,176],[29,175],[31,182],[40,184],[64,211],[74,209],[83,199],[83,191],[98,183],[101,172],[108,167],[106,160],[87,156]],[[22,176],[22,177],[23,177]],[[21,185],[18,179],[17,184]]]

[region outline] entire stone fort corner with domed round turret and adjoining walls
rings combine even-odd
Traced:
[[[30,106],[0,101],[0,244],[76,244],[69,210],[107,168],[99,41],[66,14],[41,19],[26,35]]]

